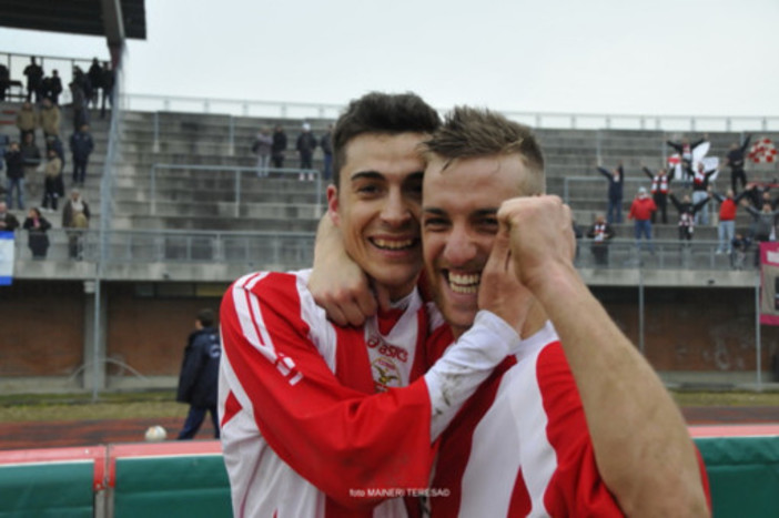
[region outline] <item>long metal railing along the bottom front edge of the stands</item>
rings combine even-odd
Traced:
[[[210,263],[273,265],[284,270],[308,267],[313,232],[113,230],[101,238],[97,230],[53,228],[42,261],[82,261],[104,265],[144,263]],[[101,251],[101,247],[104,250]],[[746,253],[718,254],[716,240],[652,240],[651,245],[615,237],[606,245],[605,263],[597,244],[578,240],[575,265],[603,270],[753,271],[757,247]],[[28,232],[17,231],[16,261],[32,261]]]

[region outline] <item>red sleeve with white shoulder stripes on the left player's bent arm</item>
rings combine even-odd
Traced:
[[[302,477],[357,508],[382,498],[352,498],[350,490],[426,486],[433,450],[425,380],[374,395],[343,386],[301,317],[294,275],[233,284],[221,325],[232,395]]]

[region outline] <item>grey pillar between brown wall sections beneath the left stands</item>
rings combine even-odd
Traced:
[[[108,326],[108,296],[105,284],[98,285],[95,281],[84,281],[84,377],[83,388],[103,390],[105,383],[107,346],[105,334]],[[98,302],[95,307],[95,302]],[[97,319],[97,325],[95,325]],[[98,339],[95,343],[95,332]]]

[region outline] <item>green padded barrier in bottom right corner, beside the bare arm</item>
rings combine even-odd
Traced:
[[[779,437],[705,437],[715,518],[779,516]]]

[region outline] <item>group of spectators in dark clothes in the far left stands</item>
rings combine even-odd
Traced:
[[[111,105],[114,74],[109,63],[95,58],[88,72],[73,68],[71,108],[73,130],[63,129],[61,108],[62,78],[58,70],[45,74],[42,63],[31,58],[23,69],[26,93],[19,99],[16,114],[18,139],[0,135],[0,170],[4,182],[0,185],[0,231],[28,231],[28,246],[34,260],[45,258],[49,248],[48,231],[52,224],[45,213],[60,212],[62,227],[69,228],[69,256],[81,258],[83,230],[89,226],[89,205],[78,191],[87,181],[89,156],[94,142],[89,131],[89,109],[100,109],[101,116]],[[8,95],[11,84],[6,65],[0,67],[0,101],[13,101]],[[102,99],[100,93],[102,92]],[[102,101],[102,102],[101,102]],[[69,134],[69,139],[64,136]],[[65,199],[65,144],[72,159],[72,192]],[[28,206],[30,196],[41,196],[38,206]],[[11,211],[19,211],[16,215]],[[23,216],[22,216],[23,214]],[[19,223],[22,220],[22,223]]]

